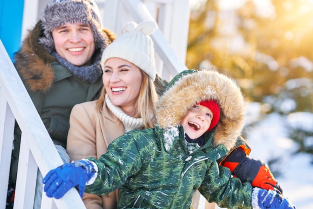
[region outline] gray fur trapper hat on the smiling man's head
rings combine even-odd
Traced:
[[[55,51],[51,31],[67,22],[89,23],[95,48],[100,49],[100,53],[108,44],[107,34],[102,32],[99,9],[93,0],[52,0],[42,10],[40,20],[44,36],[39,42],[49,53]]]

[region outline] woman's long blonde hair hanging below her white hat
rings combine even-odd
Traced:
[[[142,118],[143,128],[154,127],[155,123],[155,103],[158,100],[158,95],[156,93],[155,85],[152,78],[147,75],[143,70],[140,69],[142,74],[141,88],[139,91],[137,104],[135,108],[137,113],[135,117]],[[101,95],[96,101],[96,108],[98,112],[102,112],[103,104],[105,102],[105,88],[102,87]]]

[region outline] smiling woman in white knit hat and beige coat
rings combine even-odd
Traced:
[[[113,139],[133,129],[152,127],[157,93],[154,48],[148,36],[154,21],[129,22],[102,55],[103,89],[98,100],[76,104],[70,114],[70,160],[99,158]],[[117,191],[83,194],[87,208],[116,208]]]

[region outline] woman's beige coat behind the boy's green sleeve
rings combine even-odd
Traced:
[[[67,153],[70,160],[87,157],[98,159],[108,144],[124,134],[122,122],[103,105],[102,114],[96,110],[96,101],[76,104],[70,114]],[[118,191],[107,195],[84,193],[82,200],[88,209],[116,208]]]

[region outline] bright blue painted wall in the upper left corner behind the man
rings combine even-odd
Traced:
[[[24,0],[0,0],[0,39],[11,59],[19,49]]]

